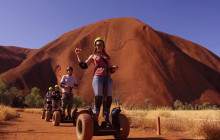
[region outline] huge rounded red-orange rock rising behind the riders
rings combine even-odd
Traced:
[[[93,100],[94,66],[80,69],[74,50],[81,48],[81,59],[86,60],[98,36],[105,40],[111,63],[119,66],[112,74],[113,96],[123,104],[144,105],[148,99],[161,106],[179,99],[220,105],[220,58],[198,44],[156,31],[133,18],[102,20],[67,32],[0,77],[25,91],[33,86],[46,91],[60,81],[67,66],[73,66],[79,83],[75,93]]]

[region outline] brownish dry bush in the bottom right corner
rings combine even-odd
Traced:
[[[197,134],[208,140],[219,140],[220,125],[216,122],[205,121],[201,124],[201,126],[198,126]]]

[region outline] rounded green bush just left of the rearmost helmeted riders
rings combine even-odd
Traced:
[[[40,89],[33,87],[31,93],[25,96],[24,104],[31,108],[41,108],[44,106],[44,99],[40,96]]]

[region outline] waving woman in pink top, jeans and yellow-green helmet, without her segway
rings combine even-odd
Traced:
[[[94,41],[95,49],[94,53],[83,62],[79,58],[79,54],[82,51],[80,48],[75,49],[76,56],[78,58],[79,65],[82,69],[87,69],[88,65],[93,62],[95,65],[94,77],[92,81],[93,90],[95,93],[95,127],[98,127],[98,117],[100,108],[103,102],[103,113],[106,124],[109,125],[109,113],[112,104],[112,78],[111,73],[114,73],[118,66],[111,66],[110,57],[105,51],[105,42],[101,37],[97,37]],[[105,97],[105,98],[103,98]]]

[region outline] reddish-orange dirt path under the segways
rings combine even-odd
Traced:
[[[77,140],[75,127],[72,124],[53,126],[52,122],[45,122],[40,114],[19,112],[20,117],[6,121],[0,125],[0,140]],[[113,136],[93,137],[98,139],[114,139]],[[178,136],[157,136],[155,132],[144,132],[131,130],[128,139],[130,140],[164,140],[179,139]]]

